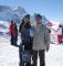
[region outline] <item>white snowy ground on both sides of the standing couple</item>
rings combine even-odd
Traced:
[[[10,36],[0,36],[0,66],[19,66],[19,48],[10,45]],[[51,44],[50,51],[45,52],[45,65],[63,66],[62,44]]]

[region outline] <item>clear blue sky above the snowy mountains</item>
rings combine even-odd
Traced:
[[[50,21],[63,21],[63,0],[0,0],[0,6],[20,6],[30,14],[40,13]]]

